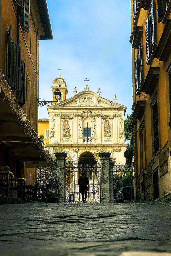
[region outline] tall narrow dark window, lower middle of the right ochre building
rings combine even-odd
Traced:
[[[154,139],[154,155],[159,151],[159,124],[158,124],[158,106],[157,98],[152,104],[153,112],[153,139]]]

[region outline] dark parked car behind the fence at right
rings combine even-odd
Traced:
[[[132,196],[134,197],[134,187],[132,186]],[[119,188],[116,192],[115,203],[128,203],[131,201],[131,186]]]

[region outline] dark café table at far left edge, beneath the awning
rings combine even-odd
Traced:
[[[14,174],[10,171],[0,170],[1,182],[6,183],[6,186],[7,186],[5,196],[8,196],[8,197],[12,197],[12,176],[13,175]]]

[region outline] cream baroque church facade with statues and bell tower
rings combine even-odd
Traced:
[[[52,92],[61,92],[61,101],[47,106],[49,114],[49,151],[62,144],[70,159],[93,159],[96,152],[107,151],[117,164],[125,163],[124,115],[126,107],[104,99],[86,84],[83,91],[66,99],[67,84],[61,75],[53,81]],[[55,102],[55,95],[54,102]],[[52,152],[52,151],[51,151]]]

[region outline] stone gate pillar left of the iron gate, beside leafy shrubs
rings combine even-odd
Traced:
[[[57,152],[56,156],[56,169],[57,176],[60,178],[62,182],[62,199],[60,202],[65,202],[65,158],[67,157],[67,153],[65,152]]]

